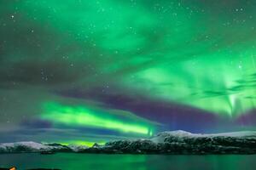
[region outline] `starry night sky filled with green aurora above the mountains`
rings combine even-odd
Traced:
[[[253,0],[1,0],[0,142],[255,130]]]

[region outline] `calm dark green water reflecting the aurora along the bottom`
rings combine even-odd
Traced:
[[[44,167],[63,170],[255,170],[256,156],[158,156],[158,155],[95,155],[58,153],[2,154],[0,167],[18,169]]]

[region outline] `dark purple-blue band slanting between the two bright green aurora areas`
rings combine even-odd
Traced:
[[[137,116],[163,123],[165,125],[163,129],[201,132],[217,126],[218,122],[222,121],[218,116],[208,111],[202,111],[188,105],[179,105],[160,99],[148,99],[139,94],[129,94],[129,92],[124,94],[125,92],[120,89],[117,90],[118,88],[113,88],[114,93],[111,92],[111,89],[103,90],[103,92],[102,89],[104,88],[96,88],[89,92],[72,89],[58,91],[57,94],[76,99],[92,99],[102,102],[106,108],[131,111]]]

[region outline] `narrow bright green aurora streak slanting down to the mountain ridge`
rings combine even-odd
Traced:
[[[55,103],[45,105],[41,118],[70,126],[97,127],[122,133],[150,134],[150,128],[137,123],[121,121],[108,114],[98,114],[81,106],[67,106]]]

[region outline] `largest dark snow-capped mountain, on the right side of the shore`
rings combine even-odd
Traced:
[[[158,133],[152,139],[108,142],[105,149],[145,154],[256,154],[256,132],[201,134],[179,130]]]

